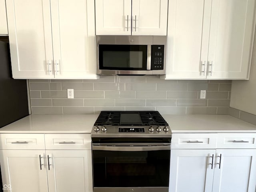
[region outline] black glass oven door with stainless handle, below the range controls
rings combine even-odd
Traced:
[[[93,144],[92,156],[94,192],[168,192],[170,143]]]

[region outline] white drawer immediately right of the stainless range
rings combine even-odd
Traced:
[[[215,149],[216,140],[215,133],[172,134],[172,149]]]

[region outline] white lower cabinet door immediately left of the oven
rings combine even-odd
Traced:
[[[92,192],[91,150],[46,150],[49,192]]]

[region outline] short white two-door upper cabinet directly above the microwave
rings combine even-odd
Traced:
[[[96,35],[166,35],[168,0],[96,0]]]

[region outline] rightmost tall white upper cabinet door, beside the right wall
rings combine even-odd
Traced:
[[[254,8],[255,0],[212,0],[207,78],[248,78]]]

